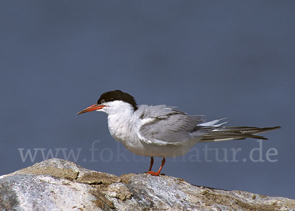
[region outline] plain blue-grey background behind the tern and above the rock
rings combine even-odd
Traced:
[[[294,11],[292,0],[1,0],[0,175],[42,160],[39,151],[34,162],[23,162],[20,148],[82,149],[77,163],[86,168],[147,171],[148,157],[125,152],[110,136],[106,114],[75,115],[102,92],[120,89],[138,104],[234,119],[229,125],[282,126],[263,142],[263,159],[275,148],[277,162],[251,162],[259,143],[247,139],[207,144],[219,153],[241,148],[239,162],[217,162],[212,152],[205,162],[206,144],[198,144],[202,162],[191,160],[192,151],[168,158],[162,172],[295,198]],[[90,162],[95,140],[97,162]]]

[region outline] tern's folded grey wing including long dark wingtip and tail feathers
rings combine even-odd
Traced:
[[[266,139],[257,134],[279,129],[276,127],[224,127],[226,118],[205,121],[202,115],[188,116],[176,107],[146,106],[142,109],[143,120],[138,128],[138,137],[147,144],[185,145],[190,140],[216,142],[245,138]]]

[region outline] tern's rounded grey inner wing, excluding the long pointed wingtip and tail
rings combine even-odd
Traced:
[[[188,116],[175,108],[166,105],[144,107],[138,137],[147,144],[160,146],[183,145],[195,139],[190,133],[204,122],[203,116]]]

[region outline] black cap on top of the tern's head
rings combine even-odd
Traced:
[[[111,102],[115,100],[121,100],[126,103],[132,105],[134,111],[138,109],[137,104],[133,96],[128,93],[125,93],[121,90],[114,90],[114,91],[106,91],[102,95],[100,95],[99,99],[97,100],[97,104],[101,104],[104,102]]]

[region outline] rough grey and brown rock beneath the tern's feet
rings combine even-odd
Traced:
[[[295,211],[295,200],[192,185],[148,174],[115,175],[49,159],[0,177],[2,211]]]

